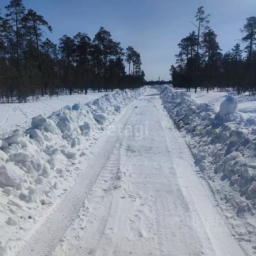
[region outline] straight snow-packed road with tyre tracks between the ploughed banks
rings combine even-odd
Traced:
[[[17,255],[249,255],[156,90],[116,127]]]

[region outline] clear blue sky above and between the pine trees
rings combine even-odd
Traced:
[[[9,0],[1,0],[0,8]],[[223,52],[236,44],[245,19],[256,15],[255,0],[23,0],[26,8],[43,15],[53,28],[54,42],[63,35],[85,32],[93,38],[100,26],[141,54],[146,79],[169,79],[177,44],[194,27],[197,7],[210,13],[210,26]]]

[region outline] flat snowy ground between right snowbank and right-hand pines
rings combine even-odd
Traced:
[[[176,89],[174,90],[176,91]],[[184,89],[178,91],[186,92]],[[197,90],[197,93],[194,93],[194,89],[191,89],[188,94],[190,94],[191,99],[195,100],[197,103],[213,104],[217,110],[220,108],[221,102],[227,97],[227,95],[231,94],[237,100],[238,113],[242,114],[244,118],[256,116],[256,97],[249,96],[248,92],[237,95],[234,91],[217,92],[217,90],[215,90],[207,93],[206,90]]]

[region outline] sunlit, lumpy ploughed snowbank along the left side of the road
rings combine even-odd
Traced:
[[[145,89],[105,94],[87,104],[65,106],[48,117],[33,117],[25,132],[17,129],[0,140],[0,225],[7,231],[0,234],[0,255],[8,249],[7,233],[31,228],[23,226],[24,219],[31,219],[30,214],[50,206],[68,190],[83,171],[84,166],[77,166],[92,154],[90,147]]]

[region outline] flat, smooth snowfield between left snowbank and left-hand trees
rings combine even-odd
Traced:
[[[111,93],[111,92],[110,92]],[[89,101],[103,96],[104,92],[74,94],[74,95],[59,95],[58,97],[48,96],[40,97],[37,102],[29,98],[27,103],[0,103],[0,138],[17,128],[25,130],[31,125],[31,118],[37,115],[48,116],[53,111],[57,111],[66,105],[74,103],[85,104]]]

